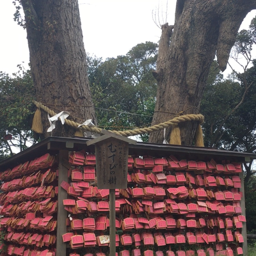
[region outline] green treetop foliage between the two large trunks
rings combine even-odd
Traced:
[[[125,56],[106,61],[87,59],[99,126],[124,130],[150,125],[156,101],[151,70],[156,68],[157,44],[138,44]],[[141,138],[147,141],[148,136]]]

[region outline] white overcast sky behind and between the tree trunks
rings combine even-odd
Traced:
[[[168,1],[167,22],[173,24],[175,0]],[[166,13],[166,0],[79,0],[86,52],[111,58],[126,54],[137,44],[157,42],[161,29],[152,19],[152,11]],[[0,71],[12,74],[17,65],[28,67],[26,30],[13,21],[12,0],[2,0],[0,8]],[[256,11],[248,14],[242,28],[247,29]],[[160,17],[162,19],[162,17]],[[161,23],[163,24],[162,20]]]

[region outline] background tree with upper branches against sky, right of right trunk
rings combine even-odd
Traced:
[[[201,104],[201,112],[205,115],[204,141],[208,147],[250,153],[256,150],[256,62],[252,58],[256,43],[255,20],[248,30],[237,34],[232,49],[231,56],[242,72],[232,68],[232,75],[223,80],[217,63],[212,65]],[[246,183],[254,173],[252,164],[252,161],[244,164]]]

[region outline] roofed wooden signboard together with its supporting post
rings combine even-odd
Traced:
[[[115,189],[127,188],[129,143],[137,141],[102,130],[103,136],[86,144],[95,144],[97,187],[109,189],[109,256],[116,255]],[[57,255],[58,256],[58,255]]]

